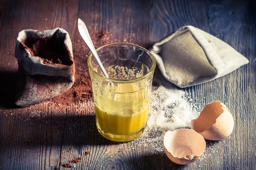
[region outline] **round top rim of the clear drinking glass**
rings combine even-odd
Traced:
[[[91,53],[91,54],[89,55],[88,61],[87,61],[87,65],[88,65],[88,67],[89,67],[89,70],[93,71],[93,73],[98,74],[99,76],[103,77],[104,79],[106,79],[106,80],[108,80],[108,81],[110,81],[110,82],[135,82],[135,81],[138,81],[138,80],[140,80],[140,79],[144,79],[145,77],[147,77],[148,75],[150,75],[150,74],[154,71],[154,69],[156,68],[157,62],[156,62],[156,59],[154,58],[154,55],[153,55],[150,51],[148,51],[146,48],[143,48],[143,47],[141,47],[140,45],[135,45],[135,44],[126,43],[126,42],[116,42],[116,43],[111,43],[111,44],[102,45],[101,47],[97,48],[96,51],[98,51],[98,50],[100,50],[100,49],[102,49],[102,48],[104,48],[104,47],[106,47],[106,46],[109,46],[109,45],[132,45],[132,46],[136,46],[136,47],[138,47],[138,48],[141,48],[141,49],[145,50],[145,51],[151,56],[151,58],[152,58],[152,60],[153,60],[153,67],[148,71],[147,74],[145,74],[145,75],[143,75],[143,76],[141,76],[141,77],[138,77],[138,78],[135,78],[135,79],[111,79],[111,78],[105,77],[105,76],[103,76],[103,75],[97,73],[95,70],[93,70],[93,68],[92,68],[92,66],[91,66],[91,62],[90,62],[90,60],[91,60],[91,58],[92,58],[92,56],[93,56],[93,54]]]

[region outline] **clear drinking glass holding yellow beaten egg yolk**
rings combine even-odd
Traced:
[[[103,76],[90,54],[88,67],[98,131],[112,141],[136,139],[147,123],[156,60],[145,48],[128,43],[109,44],[96,51],[109,76]]]

